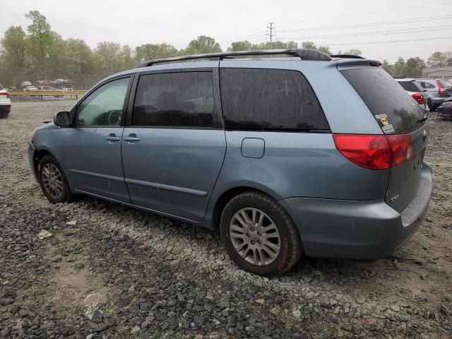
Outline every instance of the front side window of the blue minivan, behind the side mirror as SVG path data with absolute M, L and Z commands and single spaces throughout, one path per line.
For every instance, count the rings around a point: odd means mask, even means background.
M 119 126 L 130 78 L 97 88 L 77 107 L 77 126 Z

